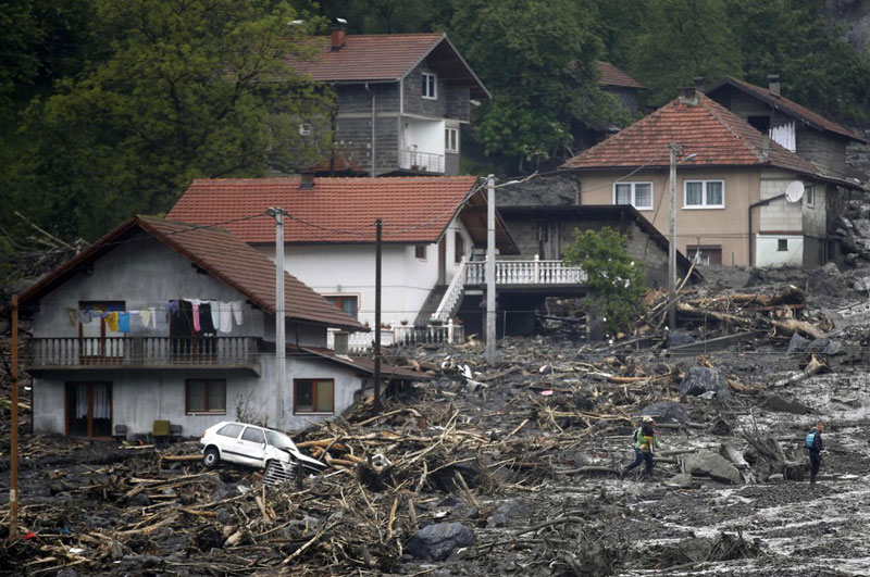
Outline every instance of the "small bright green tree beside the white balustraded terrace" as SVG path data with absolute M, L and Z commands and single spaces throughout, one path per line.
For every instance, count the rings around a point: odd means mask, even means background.
M 643 265 L 625 250 L 625 238 L 612 228 L 577 229 L 564 262 L 583 267 L 592 309 L 604 316 L 608 330 L 626 329 L 642 306 L 646 281 Z

